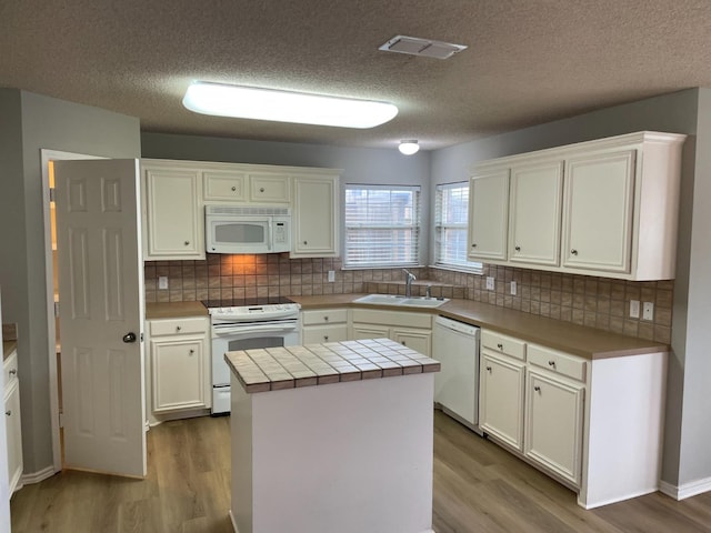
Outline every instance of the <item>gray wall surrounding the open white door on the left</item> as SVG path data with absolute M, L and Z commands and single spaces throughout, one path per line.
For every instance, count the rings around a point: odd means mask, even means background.
M 3 320 L 19 326 L 24 471 L 52 464 L 41 149 L 140 157 L 139 120 L 0 89 L 0 284 Z

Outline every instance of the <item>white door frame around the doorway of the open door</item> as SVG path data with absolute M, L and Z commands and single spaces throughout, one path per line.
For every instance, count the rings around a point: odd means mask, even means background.
M 57 375 L 57 329 L 54 328 L 54 254 L 52 250 L 52 228 L 49 192 L 49 162 L 77 159 L 107 159 L 101 155 L 63 152 L 59 150 L 40 149 L 42 171 L 42 211 L 44 214 L 44 279 L 47 286 L 47 336 L 49 358 L 49 402 L 52 423 L 52 463 L 53 472 L 47 477 L 62 470 L 62 443 L 59 431 L 59 384 Z M 61 342 L 61 340 L 60 340 Z M 39 480 L 38 480 L 39 481 Z

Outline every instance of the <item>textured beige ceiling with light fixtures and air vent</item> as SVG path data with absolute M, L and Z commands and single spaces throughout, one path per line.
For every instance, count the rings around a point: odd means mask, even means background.
M 395 34 L 469 48 L 444 61 L 378 50 Z M 192 80 L 400 113 L 370 130 L 209 118 L 181 104 Z M 0 0 L 0 87 L 139 117 L 143 131 L 431 150 L 711 87 L 711 1 Z

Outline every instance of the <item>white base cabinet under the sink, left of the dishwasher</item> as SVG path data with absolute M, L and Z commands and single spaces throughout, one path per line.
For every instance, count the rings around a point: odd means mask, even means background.
M 388 338 L 427 355 L 432 353 L 432 316 L 429 313 L 353 309 L 352 340 Z

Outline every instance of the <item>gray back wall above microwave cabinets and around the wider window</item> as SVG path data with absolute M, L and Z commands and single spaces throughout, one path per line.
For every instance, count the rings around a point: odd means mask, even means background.
M 194 135 L 143 133 L 142 157 L 150 159 L 182 159 L 192 161 L 224 161 L 231 163 L 284 164 L 343 169 L 341 199 L 346 183 L 382 183 L 421 185 L 422 221 L 429 221 L 430 153 L 403 155 L 397 148 L 365 149 L 302 144 L 289 142 L 249 141 Z M 427 243 L 429 224 L 423 224 L 421 262 L 429 258 Z

